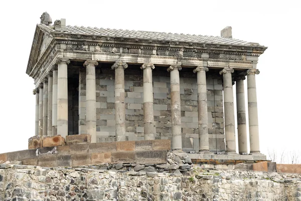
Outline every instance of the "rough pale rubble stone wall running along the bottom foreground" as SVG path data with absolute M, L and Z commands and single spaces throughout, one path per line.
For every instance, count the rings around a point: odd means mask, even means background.
M 0 201 L 301 200 L 301 174 L 193 167 L 158 173 L 0 165 Z

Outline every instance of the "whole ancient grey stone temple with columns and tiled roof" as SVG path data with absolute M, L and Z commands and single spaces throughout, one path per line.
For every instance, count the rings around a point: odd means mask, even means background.
M 26 70 L 36 85 L 36 136 L 169 139 L 173 151 L 192 158 L 265 159 L 255 76 L 266 47 L 232 39 L 231 27 L 215 37 L 51 21 L 47 13 L 41 17 Z

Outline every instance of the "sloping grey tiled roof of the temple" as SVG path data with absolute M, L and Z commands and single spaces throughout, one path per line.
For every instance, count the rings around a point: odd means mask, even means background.
M 44 30 L 47 30 L 50 33 L 68 33 L 68 34 L 77 34 L 77 35 L 107 36 L 107 37 L 118 37 L 118 38 L 143 39 L 143 40 L 177 41 L 177 42 L 189 42 L 189 43 L 264 47 L 262 45 L 259 45 L 258 43 L 250 43 L 243 40 L 218 37 L 218 36 L 134 31 L 134 30 L 122 30 L 122 29 L 104 29 L 104 28 L 96 28 L 96 27 L 92 28 L 92 27 L 83 27 L 83 26 L 81 27 L 66 26 L 67 31 L 61 32 L 61 31 L 55 31 L 53 26 L 47 26 L 44 24 L 39 24 L 38 26 Z

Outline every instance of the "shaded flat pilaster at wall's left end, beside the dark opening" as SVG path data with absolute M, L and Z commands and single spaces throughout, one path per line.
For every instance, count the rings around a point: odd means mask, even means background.
M 86 69 L 79 68 L 78 133 L 86 134 Z

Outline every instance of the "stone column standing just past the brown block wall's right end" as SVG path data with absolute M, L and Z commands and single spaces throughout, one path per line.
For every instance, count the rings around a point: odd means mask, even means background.
M 181 96 L 180 75 L 181 65 L 171 65 L 167 70 L 171 73 L 171 111 L 172 111 L 172 150 L 182 150 L 181 128 Z

